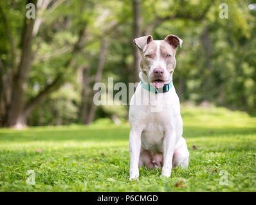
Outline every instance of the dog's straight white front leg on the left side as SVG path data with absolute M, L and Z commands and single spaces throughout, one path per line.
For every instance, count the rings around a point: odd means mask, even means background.
M 130 149 L 130 180 L 139 177 L 139 160 L 140 160 L 140 146 L 141 134 L 138 129 L 131 129 L 129 136 L 129 149 Z

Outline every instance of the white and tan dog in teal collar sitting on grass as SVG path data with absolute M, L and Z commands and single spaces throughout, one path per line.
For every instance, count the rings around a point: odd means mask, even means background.
M 142 71 L 129 108 L 130 180 L 138 180 L 143 165 L 161 168 L 166 177 L 170 177 L 172 168 L 188 166 L 179 97 L 172 84 L 176 49 L 182 42 L 175 35 L 164 40 L 153 40 L 151 35 L 134 39 L 142 56 Z M 143 103 L 149 95 L 153 96 L 149 103 Z

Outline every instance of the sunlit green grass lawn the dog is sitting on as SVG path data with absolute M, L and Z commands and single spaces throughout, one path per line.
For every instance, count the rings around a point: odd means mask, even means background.
M 188 168 L 175 168 L 166 178 L 142 167 L 140 180 L 131 182 L 127 123 L 0 129 L 0 191 L 256 192 L 256 118 L 187 107 L 182 117 Z M 28 170 L 35 172 L 35 185 L 26 184 Z

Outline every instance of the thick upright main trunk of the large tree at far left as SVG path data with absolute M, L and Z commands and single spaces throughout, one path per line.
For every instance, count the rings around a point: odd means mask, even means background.
M 50 0 L 28 0 L 26 4 L 32 3 L 36 5 L 35 13 L 41 13 L 46 9 Z M 8 104 L 8 110 L 6 111 L 5 126 L 14 126 L 21 128 L 26 124 L 26 115 L 24 110 L 25 92 L 28 83 L 28 75 L 32 67 L 33 51 L 32 45 L 37 35 L 37 31 L 41 25 L 42 19 L 40 15 L 37 15 L 35 19 L 27 19 L 24 17 L 23 33 L 21 36 L 21 60 L 15 70 L 15 59 L 12 60 L 12 71 L 15 72 L 12 76 L 12 94 L 10 97 L 10 104 Z M 10 33 L 10 32 L 9 32 Z M 8 35 L 12 40 L 11 35 Z M 15 58 L 14 44 L 12 45 L 12 58 Z

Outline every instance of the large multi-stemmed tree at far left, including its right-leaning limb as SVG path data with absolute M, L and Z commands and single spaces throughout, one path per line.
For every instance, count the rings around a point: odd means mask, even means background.
M 27 4 L 28 3 L 36 5 L 36 13 L 39 11 L 41 11 L 42 13 L 43 10 L 46 10 L 51 1 L 34 0 L 27 1 Z M 56 6 L 56 3 L 51 4 L 50 8 L 52 8 L 53 6 Z M 8 34 L 10 42 L 12 42 L 12 35 L 10 29 L 8 28 L 8 21 L 2 8 L 1 14 L 4 17 L 3 19 L 5 20 L 6 33 Z M 25 102 L 25 91 L 28 84 L 28 75 L 32 67 L 33 58 L 35 57 L 33 55 L 32 45 L 39 31 L 41 22 L 42 18 L 40 16 L 39 18 L 35 19 L 26 19 L 26 17 L 24 17 L 23 33 L 21 35 L 21 60 L 16 72 L 15 63 L 12 63 L 12 76 L 9 76 L 9 78 L 11 79 L 10 90 L 12 94 L 10 97 L 10 102 L 4 105 L 6 108 L 5 116 L 2 117 L 2 123 L 4 126 L 14 126 L 18 128 L 23 127 L 26 124 L 26 117 L 28 117 L 33 108 L 35 108 L 37 104 L 44 102 L 46 97 L 48 97 L 51 92 L 59 89 L 60 86 L 63 85 L 65 82 L 66 73 L 61 72 L 57 75 L 57 77 L 50 85 L 45 86 L 45 88 L 41 92 L 39 92 L 39 94 L 30 99 L 30 101 L 28 101 L 27 103 Z M 78 34 L 78 40 L 73 45 L 72 55 L 69 60 L 66 61 L 64 67 L 74 67 L 75 58 L 77 57 L 77 54 L 83 49 L 86 42 L 85 38 L 87 34 L 87 24 L 86 22 L 81 22 L 80 25 L 82 26 Z M 15 58 L 14 56 L 16 51 L 14 48 L 14 44 L 12 43 L 11 45 L 11 56 L 12 58 Z M 15 61 L 16 60 L 14 59 L 14 62 Z

